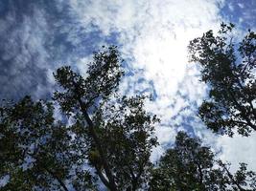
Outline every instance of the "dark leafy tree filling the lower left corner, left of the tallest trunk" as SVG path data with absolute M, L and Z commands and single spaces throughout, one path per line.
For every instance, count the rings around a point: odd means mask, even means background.
M 70 174 L 77 155 L 52 103 L 25 96 L 0 111 L 0 177 L 9 178 L 1 190 L 68 190 L 65 180 L 80 181 Z M 92 177 L 84 178 L 92 187 Z

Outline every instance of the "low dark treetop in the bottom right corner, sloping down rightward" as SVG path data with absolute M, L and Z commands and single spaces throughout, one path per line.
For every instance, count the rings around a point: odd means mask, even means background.
M 209 147 L 198 138 L 179 132 L 175 146 L 168 149 L 153 168 L 151 190 L 255 190 L 256 174 L 240 169 L 232 174 L 229 164 L 215 159 Z

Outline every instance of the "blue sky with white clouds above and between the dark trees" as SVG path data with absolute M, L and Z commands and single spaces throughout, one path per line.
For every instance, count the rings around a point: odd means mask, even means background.
M 233 22 L 242 38 L 256 28 L 255 0 L 2 0 L 0 1 L 0 98 L 51 97 L 53 72 L 71 65 L 81 74 L 92 53 L 117 45 L 127 75 L 120 92 L 151 94 L 147 110 L 161 118 L 153 150 L 156 160 L 177 131 L 202 138 L 221 159 L 256 170 L 256 134 L 214 135 L 197 117 L 206 96 L 187 45 L 203 32 Z

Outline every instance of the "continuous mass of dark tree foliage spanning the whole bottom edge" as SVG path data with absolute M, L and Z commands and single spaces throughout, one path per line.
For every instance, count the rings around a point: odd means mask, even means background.
M 116 47 L 104 48 L 85 77 L 71 67 L 57 70 L 53 101 L 25 96 L 2 104 L 1 190 L 255 189 L 246 164 L 231 174 L 229 164 L 185 133 L 154 166 L 159 119 L 145 110 L 148 97 L 118 94 L 121 63 Z

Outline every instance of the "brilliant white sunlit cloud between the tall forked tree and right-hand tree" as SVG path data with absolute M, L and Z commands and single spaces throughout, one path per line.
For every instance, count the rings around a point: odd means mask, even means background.
M 156 132 L 162 145 L 174 141 L 175 131 L 186 128 L 178 126 L 188 123 L 206 143 L 214 144 L 215 149 L 222 147 L 223 159 L 229 156 L 228 159 L 236 163 L 237 154 L 231 149 L 236 145 L 236 138 L 217 139 L 195 116 L 205 86 L 198 82 L 196 67 L 189 66 L 187 61 L 189 41 L 209 29 L 219 29 L 223 0 L 98 0 L 89 4 L 72 0 L 70 5 L 86 30 L 92 29 L 86 26 L 93 25 L 104 36 L 113 32 L 119 34 L 121 51 L 125 59 L 132 60 L 128 65 L 133 73 L 124 79 L 121 90 L 134 94 L 153 88 L 157 96 L 147 107 L 162 119 L 162 126 Z M 138 83 L 140 78 L 145 81 Z M 185 117 L 193 119 L 184 121 Z M 255 140 L 248 139 L 250 151 Z M 239 138 L 239 141 L 243 140 Z M 237 152 L 244 156 L 250 155 L 237 148 Z M 163 148 L 158 147 L 152 159 L 157 159 L 162 152 Z M 242 160 L 250 163 L 253 158 Z

